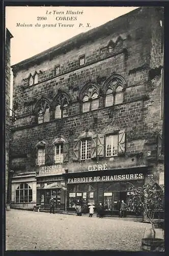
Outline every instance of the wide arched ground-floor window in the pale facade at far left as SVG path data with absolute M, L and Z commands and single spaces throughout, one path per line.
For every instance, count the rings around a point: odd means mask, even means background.
M 20 184 L 16 189 L 16 203 L 32 202 L 32 188 L 27 183 Z

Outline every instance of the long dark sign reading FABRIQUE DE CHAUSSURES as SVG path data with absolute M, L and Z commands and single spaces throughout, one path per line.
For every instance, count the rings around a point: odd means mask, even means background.
M 127 180 L 143 180 L 143 174 L 124 174 L 124 175 L 109 175 L 109 176 L 94 176 L 94 177 L 81 177 L 70 178 L 69 183 L 87 183 L 87 182 L 100 182 L 100 181 L 127 181 Z

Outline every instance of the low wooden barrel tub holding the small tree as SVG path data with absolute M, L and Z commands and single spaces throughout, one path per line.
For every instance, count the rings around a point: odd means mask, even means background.
M 164 251 L 164 240 L 160 238 L 143 238 L 142 251 Z

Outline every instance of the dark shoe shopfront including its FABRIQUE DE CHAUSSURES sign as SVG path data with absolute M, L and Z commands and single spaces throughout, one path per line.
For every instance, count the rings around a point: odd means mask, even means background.
M 75 210 L 77 200 L 81 204 L 101 202 L 107 214 L 118 215 L 121 201 L 127 203 L 129 187 L 144 184 L 143 170 L 108 170 L 105 173 L 76 173 L 67 175 L 67 210 Z

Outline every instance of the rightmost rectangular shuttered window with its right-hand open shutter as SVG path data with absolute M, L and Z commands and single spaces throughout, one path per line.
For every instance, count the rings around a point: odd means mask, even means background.
M 118 156 L 125 152 L 125 130 L 106 136 L 106 157 Z

